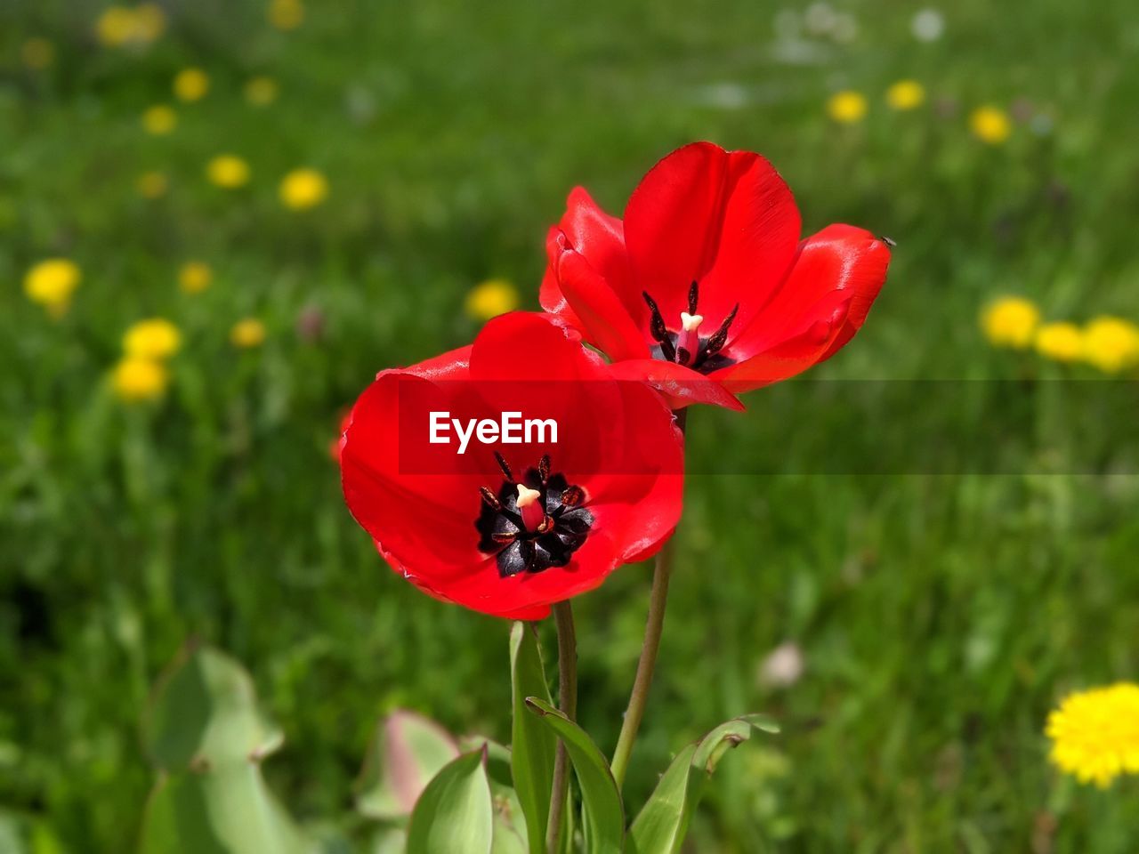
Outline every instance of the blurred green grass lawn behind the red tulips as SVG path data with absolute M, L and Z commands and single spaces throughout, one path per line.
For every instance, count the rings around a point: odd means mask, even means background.
M 796 453 L 876 434 L 890 447 L 911 417 L 960 417 L 947 383 L 912 413 L 844 421 L 828 412 L 828 389 L 857 387 L 842 380 L 1054 376 L 986 348 L 976 315 L 1000 293 L 1056 319 L 1139 314 L 1126 3 L 968 0 L 929 44 L 898 2 L 844 3 L 850 44 L 788 42 L 776 7 L 739 0 L 328 0 L 289 33 L 260 3 L 165 6 L 167 33 L 144 51 L 96 44 L 95 3 L 0 8 L 0 807 L 34 829 L 32 851 L 129 847 L 151 781 L 141 709 L 191 635 L 251 668 L 287 738 L 268 773 L 306 821 L 343 819 L 386 709 L 507 738 L 507 625 L 382 566 L 327 445 L 376 370 L 473 337 L 461 306 L 478 280 L 505 276 L 536 307 L 544 229 L 571 187 L 620 211 L 691 139 L 765 153 L 806 230 L 850 221 L 899 249 L 863 332 L 812 375 L 834 381 L 691 419 L 693 468 L 710 474 L 688 487 L 633 800 L 686 739 L 765 711 L 786 734 L 723 763 L 693 851 L 1133 847 L 1134 783 L 1059 779 L 1042 737 L 1064 691 L 1139 673 L 1133 427 L 1046 429 L 1050 457 L 981 471 L 844 474 Z M 32 35 L 56 46 L 43 72 L 19 64 Z M 147 137 L 139 116 L 190 64 L 210 95 Z M 240 89 L 261 73 L 281 95 L 259 110 Z M 882 100 L 901 77 L 929 92 L 913 113 Z M 827 120 L 838 88 L 868 96 L 863 123 Z M 1018 99 L 1050 132 L 969 136 L 973 107 Z M 248 159 L 248 188 L 205 182 L 223 151 Z M 329 178 L 313 212 L 277 202 L 297 165 Z M 149 170 L 171 184 L 154 202 L 134 190 Z M 51 322 L 19 281 L 57 254 L 84 280 Z M 189 258 L 216 272 L 200 296 L 175 285 Z M 317 339 L 295 330 L 305 310 Z M 167 400 L 128 408 L 105 377 L 125 327 L 155 314 L 186 345 Z M 237 353 L 228 330 L 249 314 L 269 338 Z M 993 432 L 986 451 L 1007 459 L 1018 438 Z M 1093 465 L 1084 441 L 1106 449 Z M 580 714 L 606 748 L 647 590 L 632 567 L 575 606 Z M 805 674 L 764 687 L 760 663 L 785 640 Z

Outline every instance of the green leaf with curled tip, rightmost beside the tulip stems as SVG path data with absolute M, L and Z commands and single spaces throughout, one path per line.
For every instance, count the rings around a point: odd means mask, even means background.
M 752 730 L 779 732 L 765 715 L 727 721 L 682 749 L 664 772 L 629 829 L 630 854 L 677 854 L 704 788 L 723 755 L 751 738 Z

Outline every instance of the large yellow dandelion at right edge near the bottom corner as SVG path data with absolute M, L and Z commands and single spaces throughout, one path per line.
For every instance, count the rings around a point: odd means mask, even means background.
M 1117 682 L 1068 695 L 1048 715 L 1051 761 L 1080 782 L 1101 789 L 1139 774 L 1139 685 Z

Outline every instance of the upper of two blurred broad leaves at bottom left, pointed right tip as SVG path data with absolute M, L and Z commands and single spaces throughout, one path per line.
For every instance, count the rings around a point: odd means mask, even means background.
M 185 649 L 159 681 L 146 725 L 166 771 L 246 762 L 276 750 L 281 731 L 257 707 L 249 674 L 210 647 Z

